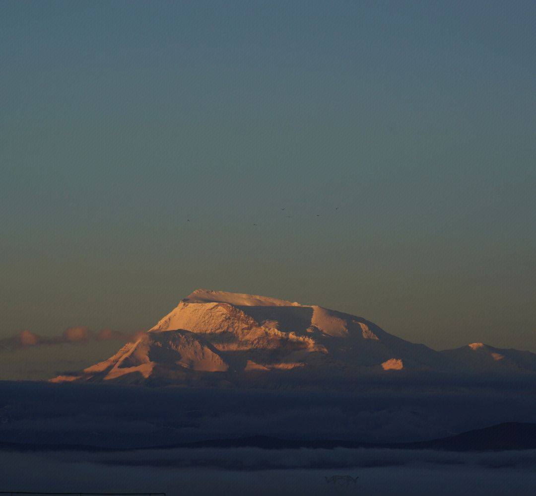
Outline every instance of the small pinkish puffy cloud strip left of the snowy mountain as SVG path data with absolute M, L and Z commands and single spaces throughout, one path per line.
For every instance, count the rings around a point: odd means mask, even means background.
M 94 332 L 85 325 L 77 325 L 76 327 L 65 329 L 60 336 L 48 337 L 40 336 L 25 329 L 9 338 L 0 339 L 0 350 L 11 351 L 45 344 L 84 343 L 91 339 L 95 341 L 116 340 L 128 343 L 135 342 L 143 334 L 145 334 L 145 331 L 142 329 L 138 329 L 133 333 L 113 331 L 111 329 Z

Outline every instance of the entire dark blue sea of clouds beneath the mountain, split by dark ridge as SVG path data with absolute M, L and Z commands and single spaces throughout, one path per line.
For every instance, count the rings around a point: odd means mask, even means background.
M 162 448 L 246 435 L 396 442 L 536 422 L 533 385 L 369 377 L 362 388 L 147 388 L 0 381 L 0 439 L 129 450 L 0 450 L 2 491 L 534 494 L 536 450 Z M 515 387 L 512 387 L 515 386 Z M 160 446 L 153 449 L 140 447 Z M 333 484 L 333 476 L 337 485 Z M 348 482 L 350 476 L 356 482 Z M 331 483 L 329 481 L 332 481 Z

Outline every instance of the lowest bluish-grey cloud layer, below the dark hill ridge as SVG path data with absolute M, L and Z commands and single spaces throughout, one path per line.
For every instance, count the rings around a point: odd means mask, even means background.
M 0 480 L 4 491 L 165 492 L 167 496 L 532 496 L 536 490 L 535 460 L 534 451 L 449 454 L 203 449 L 123 455 L 0 452 Z M 233 468 L 237 461 L 240 467 Z M 277 468 L 258 469 L 259 463 Z

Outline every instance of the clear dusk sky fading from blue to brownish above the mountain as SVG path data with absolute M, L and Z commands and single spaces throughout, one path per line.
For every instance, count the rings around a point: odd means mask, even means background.
M 0 338 L 149 328 L 209 288 L 536 352 L 535 25 L 532 0 L 0 3 Z

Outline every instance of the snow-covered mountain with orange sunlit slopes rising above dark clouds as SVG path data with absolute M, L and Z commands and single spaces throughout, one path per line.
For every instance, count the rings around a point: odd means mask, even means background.
M 502 356 L 500 351 L 494 351 L 490 360 Z M 309 372 L 331 376 L 401 370 L 489 372 L 502 370 L 507 361 L 515 364 L 507 367 L 508 371 L 512 367 L 536 370 L 532 353 L 524 352 L 529 355 L 525 356 L 523 352 L 509 352 L 508 360 L 495 358 L 497 366 L 490 368 L 489 360 L 480 354 L 471 357 L 458 350 L 440 353 L 390 335 L 361 317 L 335 310 L 197 290 L 136 343 L 126 344 L 113 357 L 79 374 L 51 381 L 221 386 L 262 374 L 264 384 L 269 384 L 270 373 L 281 371 L 296 377 L 307 377 Z M 482 360 L 486 367 L 481 367 Z

